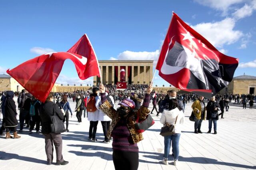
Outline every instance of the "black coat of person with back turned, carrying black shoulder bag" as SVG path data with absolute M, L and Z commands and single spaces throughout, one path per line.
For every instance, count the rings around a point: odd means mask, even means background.
M 56 115 L 60 118 L 60 120 L 64 119 L 64 115 L 57 104 L 54 104 L 51 101 L 46 101 L 40 107 L 40 117 L 42 119 L 42 134 L 51 133 L 51 116 L 53 116 L 53 109 Z

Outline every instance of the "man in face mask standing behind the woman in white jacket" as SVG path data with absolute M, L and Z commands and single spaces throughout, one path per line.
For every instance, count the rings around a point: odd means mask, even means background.
M 170 100 L 171 99 L 176 99 L 176 95 L 177 95 L 177 92 L 175 90 L 170 90 L 169 91 L 168 97 L 165 97 L 165 99 L 161 102 L 159 110 L 158 110 L 159 112 L 156 116 L 158 116 L 159 113 L 162 113 L 164 111 L 164 109 L 168 109 Z M 182 101 L 177 99 L 177 102 L 179 103 L 179 109 L 181 109 L 184 113 L 184 108 L 183 108 Z

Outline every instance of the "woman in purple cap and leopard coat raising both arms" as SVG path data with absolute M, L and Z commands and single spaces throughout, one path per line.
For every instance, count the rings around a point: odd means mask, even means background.
M 104 85 L 100 85 L 100 96 L 102 105 L 100 109 L 112 119 L 108 130 L 108 138 L 112 136 L 113 162 L 116 170 L 137 170 L 139 164 L 139 150 L 137 143 L 143 139 L 142 133 L 137 132 L 135 128 L 136 117 L 139 120 L 146 119 L 150 110 L 150 93 L 152 92 L 152 83 L 146 89 L 146 95 L 140 109 L 134 111 L 135 103 L 130 99 L 123 99 L 120 107 L 115 110 L 108 103 L 105 94 Z

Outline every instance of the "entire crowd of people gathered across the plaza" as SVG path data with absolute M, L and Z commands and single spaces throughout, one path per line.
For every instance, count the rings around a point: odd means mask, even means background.
M 175 125 L 175 134 L 164 136 L 164 156 L 162 163 L 168 165 L 170 146 L 172 146 L 172 155 L 174 165 L 178 164 L 179 157 L 179 140 L 182 133 L 182 124 L 185 122 L 185 106 L 188 102 L 192 103 L 192 115 L 195 117 L 194 133 L 199 134 L 203 120 L 208 120 L 208 133 L 211 133 L 212 123 L 214 125 L 214 134 L 217 134 L 217 121 L 219 115 L 224 119 L 224 111 L 229 110 L 230 102 L 242 103 L 246 109 L 249 101 L 250 109 L 256 97 L 254 95 L 238 94 L 217 94 L 211 99 L 205 99 L 203 96 L 196 94 L 177 94 L 175 90 L 166 93 L 156 94 L 152 85 L 129 85 L 125 91 L 118 91 L 116 85 L 100 85 L 93 87 L 88 91 L 74 91 L 72 93 L 50 93 L 46 102 L 41 103 L 26 90 L 21 93 L 13 91 L 0 92 L 1 95 L 1 112 L 3 115 L 0 135 L 6 139 L 20 138 L 17 127 L 20 125 L 19 133 L 23 128 L 29 128 L 32 133 L 36 126 L 36 132 L 40 132 L 45 138 L 45 150 L 48 164 L 53 162 L 53 146 L 56 148 L 57 165 L 68 164 L 62 156 L 62 136 L 61 133 L 52 132 L 51 117 L 57 115 L 58 119 L 66 122 L 65 131 L 68 132 L 69 114 L 73 115 L 70 108 L 69 99 L 76 102 L 75 112 L 78 125 L 82 122 L 82 113 L 90 121 L 88 129 L 88 140 L 97 141 L 96 131 L 98 121 L 102 124 L 104 133 L 103 143 L 110 143 L 112 139 L 113 162 L 117 170 L 138 169 L 138 145 L 143 139 L 141 132 L 136 130 L 135 124 L 138 117 L 139 121 L 144 121 L 150 113 L 148 106 L 152 100 L 153 110 L 156 116 L 161 113 L 160 123 L 163 125 Z M 14 96 L 18 97 L 19 123 L 16 119 L 18 115 Z M 114 109 L 116 101 L 119 101 L 118 109 Z M 207 104 L 206 104 L 207 102 Z M 158 106 L 158 110 L 157 110 Z M 220 113 L 219 113 L 220 111 Z M 10 135 L 13 131 L 13 136 Z

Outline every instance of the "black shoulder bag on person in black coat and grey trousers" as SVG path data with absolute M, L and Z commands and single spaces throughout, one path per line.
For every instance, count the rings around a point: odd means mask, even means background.
M 53 109 L 53 116 L 50 117 L 50 119 L 52 121 L 52 123 L 50 124 L 51 132 L 52 133 L 62 133 L 62 132 L 65 132 L 66 130 L 65 130 L 64 123 L 62 122 L 62 120 L 60 120 L 58 115 L 55 114 L 54 105 L 53 105 L 52 109 Z

